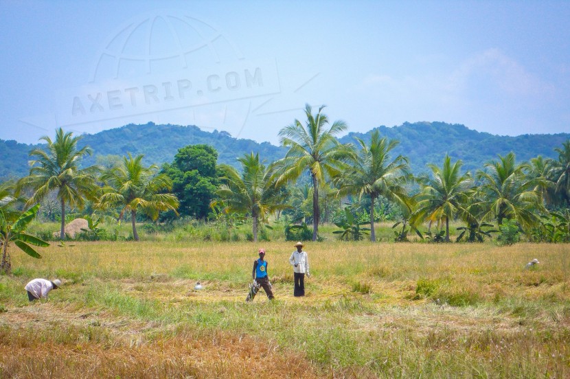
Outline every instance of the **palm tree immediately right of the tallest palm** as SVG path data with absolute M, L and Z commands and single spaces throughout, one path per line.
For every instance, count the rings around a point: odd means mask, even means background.
M 398 141 L 380 138 L 378 130 L 372 132 L 370 144 L 356 138 L 361 150 L 354 154 L 349 161 L 350 168 L 343 171 L 335 183 L 339 185 L 339 195 L 348 194 L 370 196 L 370 240 L 376 241 L 374 233 L 374 201 L 378 196 L 385 196 L 390 200 L 404 205 L 406 190 L 404 183 L 409 178 L 408 160 L 398 155 L 390 161 L 390 152 Z

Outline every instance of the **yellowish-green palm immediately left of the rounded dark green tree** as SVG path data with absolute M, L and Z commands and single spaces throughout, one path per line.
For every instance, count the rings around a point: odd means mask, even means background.
M 136 225 L 139 208 L 152 220 L 157 220 L 160 211 L 171 209 L 176 213 L 179 205 L 176 196 L 161 193 L 172 189 L 170 178 L 166 174 L 155 175 L 158 166 L 153 164 L 144 167 L 142 159 L 142 154 L 135 158 L 128 154 L 119 165 L 103 172 L 101 180 L 106 185 L 95 203 L 99 209 L 121 207 L 119 219 L 126 211 L 130 211 L 135 241 L 139 240 Z

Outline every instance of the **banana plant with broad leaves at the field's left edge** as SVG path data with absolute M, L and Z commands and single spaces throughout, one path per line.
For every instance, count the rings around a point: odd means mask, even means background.
M 41 258 L 41 255 L 32 246 L 30 246 L 30 244 L 40 247 L 49 246 L 49 243 L 44 240 L 25 233 L 27 225 L 34 220 L 39 208 L 39 204 L 34 205 L 19 215 L 16 220 L 6 217 L 4 212 L 0 209 L 0 246 L 2 249 L 0 271 L 3 273 L 9 274 L 12 271 L 10 253 L 8 252 L 8 247 L 12 242 L 14 242 L 14 244 L 24 253 L 30 255 L 30 257 L 38 259 Z

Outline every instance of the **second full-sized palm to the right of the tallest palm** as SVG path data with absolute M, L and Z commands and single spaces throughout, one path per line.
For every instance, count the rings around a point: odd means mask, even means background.
M 445 218 L 445 241 L 449 242 L 449 219 L 467 214 L 466 198 L 473 185 L 469 174 L 461 174 L 461 160 L 451 164 L 446 155 L 443 166 L 429 164 L 432 178 L 420 179 L 422 192 L 418 197 L 415 217 L 430 222 Z

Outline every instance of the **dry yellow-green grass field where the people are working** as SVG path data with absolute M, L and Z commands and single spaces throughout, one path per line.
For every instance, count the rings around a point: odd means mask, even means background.
M 259 247 L 276 299 L 245 303 Z M 309 242 L 304 298 L 293 297 L 293 250 L 13 250 L 14 275 L 0 276 L 0 378 L 570 378 L 567 244 Z M 30 304 L 34 277 L 62 288 Z

